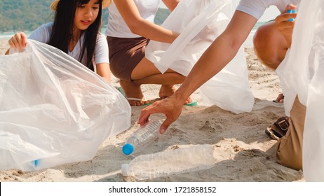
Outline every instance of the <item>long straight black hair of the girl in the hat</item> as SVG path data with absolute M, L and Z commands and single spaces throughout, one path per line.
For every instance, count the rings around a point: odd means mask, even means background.
M 50 36 L 49 45 L 59 48 L 63 52 L 68 52 L 69 41 L 72 39 L 74 15 L 76 7 L 88 3 L 90 0 L 60 0 L 55 11 L 52 35 Z M 102 16 L 102 0 L 99 2 L 99 12 L 95 22 L 88 29 L 81 31 L 84 34 L 84 43 L 82 44 L 79 62 L 82 61 L 83 55 L 86 56 L 86 66 L 94 71 L 93 53 L 95 52 L 95 44 L 97 43 L 97 34 L 101 26 Z

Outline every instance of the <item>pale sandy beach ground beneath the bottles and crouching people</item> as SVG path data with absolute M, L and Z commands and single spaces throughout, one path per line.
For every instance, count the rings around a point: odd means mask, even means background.
M 0 55 L 8 49 L 7 41 L 0 41 Z M 147 181 L 304 181 L 302 171 L 278 165 L 274 160 L 276 141 L 264 133 L 266 127 L 284 116 L 283 104 L 272 102 L 281 92 L 278 76 L 266 69 L 255 56 L 253 48 L 245 48 L 250 87 L 255 105 L 250 113 L 231 113 L 217 106 L 203 106 L 199 92 L 192 97 L 198 106 L 184 106 L 182 115 L 141 154 L 172 151 L 200 144 L 214 149 L 215 166 L 198 172 L 170 175 Z M 114 78 L 113 85 L 119 86 Z M 159 85 L 143 85 L 148 99 L 158 97 Z M 123 155 L 121 147 L 137 128 L 137 119 L 144 106 L 132 107 L 131 127 L 104 141 L 93 160 L 60 165 L 39 172 L 22 172 L 18 169 L 0 171 L 0 181 L 138 181 L 121 174 L 121 165 L 133 160 Z M 163 114 L 151 116 L 163 119 Z M 171 166 L 170 166 L 171 167 Z

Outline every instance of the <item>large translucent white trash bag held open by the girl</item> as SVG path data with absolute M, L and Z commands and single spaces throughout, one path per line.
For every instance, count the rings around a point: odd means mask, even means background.
M 0 169 L 90 160 L 128 127 L 122 94 L 64 52 L 28 41 L 25 51 L 0 56 Z

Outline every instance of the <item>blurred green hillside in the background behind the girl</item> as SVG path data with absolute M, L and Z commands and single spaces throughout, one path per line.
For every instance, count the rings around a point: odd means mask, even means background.
M 0 0 L 0 32 L 33 31 L 47 22 L 53 21 L 50 10 L 53 0 Z M 168 17 L 169 10 L 158 9 L 155 22 L 158 25 Z M 102 26 L 107 25 L 108 10 L 102 13 Z

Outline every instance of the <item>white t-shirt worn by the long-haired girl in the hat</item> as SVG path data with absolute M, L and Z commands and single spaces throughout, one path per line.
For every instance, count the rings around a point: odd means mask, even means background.
M 52 34 L 53 22 L 49 22 L 47 24 L 41 25 L 41 27 L 37 28 L 30 36 L 29 39 L 33 39 L 42 43 L 48 43 L 50 41 L 50 35 Z M 83 44 L 84 36 L 81 35 L 78 43 L 76 43 L 73 50 L 68 51 L 68 55 L 73 57 L 76 60 L 79 60 L 81 54 L 81 48 Z M 97 44 L 95 45 L 95 55 L 94 55 L 95 64 L 100 63 L 109 63 L 109 53 L 108 53 L 108 43 L 103 34 L 98 34 L 97 36 Z M 86 51 L 84 52 L 84 57 L 81 61 L 82 64 L 86 65 Z

